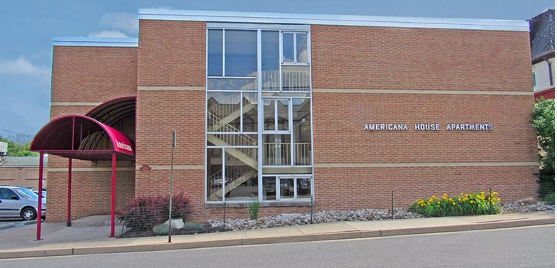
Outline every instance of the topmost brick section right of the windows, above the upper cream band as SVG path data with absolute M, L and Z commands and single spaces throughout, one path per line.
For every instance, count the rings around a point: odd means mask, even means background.
M 311 26 L 313 88 L 532 91 L 529 40 L 517 31 Z

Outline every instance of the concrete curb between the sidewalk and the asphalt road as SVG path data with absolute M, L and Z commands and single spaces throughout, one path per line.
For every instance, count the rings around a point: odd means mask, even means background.
M 489 230 L 509 227 L 524 227 L 533 225 L 553 225 L 555 218 L 538 218 L 524 220 L 499 220 L 486 223 L 471 223 L 465 225 L 435 226 L 435 227 L 410 227 L 385 230 L 354 230 L 344 232 L 328 232 L 319 234 L 302 234 L 282 237 L 251 237 L 227 240 L 209 240 L 197 242 L 154 242 L 150 245 L 110 245 L 100 247 L 73 247 L 53 248 L 44 250 L 14 250 L 0 252 L 0 259 L 13 259 L 23 257 L 53 257 L 78 254 L 106 254 L 124 252 L 146 252 L 160 250 L 187 250 L 202 247 L 229 247 L 241 245 L 278 244 L 286 242 L 308 242 L 324 240 L 343 240 L 354 238 L 388 237 L 395 235 L 417 235 L 439 232 L 462 232 L 472 230 Z

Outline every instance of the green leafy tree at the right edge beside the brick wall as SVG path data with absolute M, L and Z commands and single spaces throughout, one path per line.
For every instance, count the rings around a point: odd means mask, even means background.
M 540 151 L 540 188 L 538 193 L 545 197 L 555 193 L 555 99 L 536 100 L 533 104 L 533 128 L 538 134 Z

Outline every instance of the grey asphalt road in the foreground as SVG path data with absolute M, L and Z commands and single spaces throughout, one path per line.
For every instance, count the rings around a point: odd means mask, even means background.
M 0 260 L 0 267 L 555 267 L 555 225 Z

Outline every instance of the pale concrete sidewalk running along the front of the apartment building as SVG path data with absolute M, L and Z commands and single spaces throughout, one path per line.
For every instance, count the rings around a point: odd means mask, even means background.
M 110 216 L 93 216 L 75 220 L 72 222 L 72 227 L 66 227 L 66 223 L 43 223 L 41 232 L 43 240 L 40 241 L 34 240 L 36 224 L 3 229 L 2 226 L 6 227 L 6 224 L 11 223 L 0 221 L 0 259 L 179 250 L 553 225 L 555 212 L 548 210 L 536 213 L 298 225 L 239 232 L 175 235 L 172 236 L 171 243 L 168 242 L 167 236 L 109 238 Z M 117 235 L 121 230 L 122 227 L 117 225 Z

